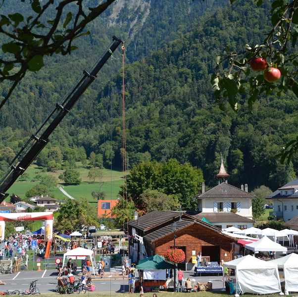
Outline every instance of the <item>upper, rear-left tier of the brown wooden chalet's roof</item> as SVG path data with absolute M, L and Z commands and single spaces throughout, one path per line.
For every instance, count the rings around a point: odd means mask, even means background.
M 147 231 L 167 221 L 171 221 L 173 217 L 179 217 L 180 211 L 160 211 L 153 210 L 142 215 L 138 220 L 128 222 L 129 225 Z M 183 213 L 182 213 L 183 215 Z

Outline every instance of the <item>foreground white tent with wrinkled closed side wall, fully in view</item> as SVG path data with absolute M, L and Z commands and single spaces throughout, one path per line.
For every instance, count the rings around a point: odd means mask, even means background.
M 277 265 L 257 259 L 251 255 L 223 264 L 225 268 L 235 269 L 236 283 L 243 294 L 271 294 L 281 292 Z

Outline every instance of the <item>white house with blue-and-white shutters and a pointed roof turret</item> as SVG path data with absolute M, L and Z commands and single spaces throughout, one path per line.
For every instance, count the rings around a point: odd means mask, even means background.
M 203 182 L 202 193 L 193 198 L 197 200 L 199 212 L 195 217 L 204 218 L 222 229 L 232 226 L 241 229 L 250 228 L 254 223 L 252 199 L 257 197 L 248 193 L 247 184 L 242 185 L 241 189 L 228 184 L 229 176 L 222 161 L 219 173 L 216 175 L 218 185 L 205 191 Z

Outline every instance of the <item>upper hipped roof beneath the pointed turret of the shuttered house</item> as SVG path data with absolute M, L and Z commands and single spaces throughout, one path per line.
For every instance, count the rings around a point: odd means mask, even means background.
M 222 182 L 214 188 L 206 191 L 203 194 L 197 195 L 195 199 L 206 199 L 206 198 L 250 198 L 255 199 L 256 196 L 246 191 L 243 191 L 235 186 Z

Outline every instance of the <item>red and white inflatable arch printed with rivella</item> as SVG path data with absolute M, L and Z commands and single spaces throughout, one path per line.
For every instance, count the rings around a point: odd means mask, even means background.
M 53 213 L 52 212 L 14 212 L 0 213 L 0 240 L 4 239 L 5 221 L 38 221 L 45 220 L 45 239 L 53 237 Z

